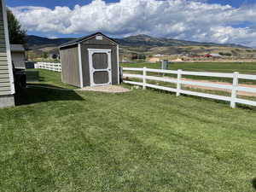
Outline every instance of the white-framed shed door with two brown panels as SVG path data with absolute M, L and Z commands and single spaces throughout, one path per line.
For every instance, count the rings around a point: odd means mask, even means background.
M 111 49 L 88 49 L 90 63 L 90 85 L 112 84 Z

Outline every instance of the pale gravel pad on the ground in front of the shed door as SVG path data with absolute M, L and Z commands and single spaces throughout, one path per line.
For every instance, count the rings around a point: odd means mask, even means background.
M 84 87 L 79 90 L 89 90 L 89 91 L 98 91 L 98 92 L 107 92 L 107 93 L 125 93 L 131 91 L 119 85 L 104 85 L 104 86 L 95 86 L 95 87 Z

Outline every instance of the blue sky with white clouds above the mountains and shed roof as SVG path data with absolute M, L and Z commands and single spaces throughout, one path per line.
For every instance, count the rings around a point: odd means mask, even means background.
M 256 47 L 255 0 L 6 0 L 28 34 L 148 34 Z

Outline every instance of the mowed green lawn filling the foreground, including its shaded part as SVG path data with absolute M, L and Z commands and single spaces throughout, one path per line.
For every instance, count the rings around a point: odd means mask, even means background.
M 18 98 L 0 109 L 0 191 L 255 191 L 255 108 L 154 90 Z

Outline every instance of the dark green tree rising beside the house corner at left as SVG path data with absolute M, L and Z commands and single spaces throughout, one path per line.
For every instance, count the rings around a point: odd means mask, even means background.
M 19 20 L 10 9 L 7 9 L 9 43 L 26 45 L 26 30 L 22 29 Z

